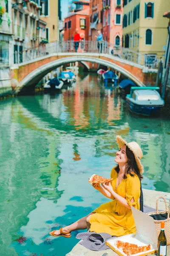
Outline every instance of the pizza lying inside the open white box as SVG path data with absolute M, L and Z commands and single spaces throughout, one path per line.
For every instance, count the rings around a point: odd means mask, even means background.
M 146 245 L 146 246 L 138 246 L 137 244 L 130 244 L 127 242 L 122 242 L 122 241 L 116 241 L 116 246 L 120 250 L 122 250 L 127 256 L 136 254 L 136 253 L 142 253 L 146 252 L 147 250 L 152 249 L 152 245 Z

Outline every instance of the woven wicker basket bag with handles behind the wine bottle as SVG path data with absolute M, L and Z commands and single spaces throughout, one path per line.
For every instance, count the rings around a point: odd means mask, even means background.
M 159 198 L 162 198 L 165 203 L 165 211 L 163 211 L 163 212 L 159 212 L 159 210 L 158 210 Z M 156 234 L 157 234 L 157 236 L 159 236 L 159 233 L 161 232 L 161 221 L 164 221 L 164 224 L 165 224 L 164 230 L 165 230 L 165 236 L 167 238 L 167 245 L 170 245 L 170 209 L 169 210 L 167 209 L 167 202 L 163 196 L 159 196 L 156 199 L 156 212 L 148 212 L 146 214 L 154 215 L 154 214 L 160 214 L 160 213 L 167 213 L 167 219 L 160 220 L 160 221 L 154 220 L 155 227 L 156 227 Z

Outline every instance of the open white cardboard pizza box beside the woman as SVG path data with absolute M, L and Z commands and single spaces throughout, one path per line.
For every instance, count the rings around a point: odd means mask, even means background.
M 122 250 L 116 247 L 116 241 L 120 240 L 138 246 L 152 245 L 152 249 L 142 253 L 133 254 L 133 256 L 146 256 L 157 251 L 158 238 L 153 218 L 144 214 L 138 209 L 131 207 L 133 218 L 136 225 L 136 234 L 119 236 L 106 241 L 106 244 L 120 256 L 127 256 Z

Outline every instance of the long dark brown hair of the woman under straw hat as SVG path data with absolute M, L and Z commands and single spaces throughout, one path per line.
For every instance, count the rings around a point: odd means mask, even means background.
M 135 156 L 133 152 L 126 146 L 126 156 L 127 156 L 127 165 L 125 167 L 125 175 L 124 179 L 127 178 L 127 174 L 130 174 L 131 176 L 134 176 L 135 174 L 138 175 L 140 180 L 143 179 L 143 176 L 140 174 L 138 166 L 136 164 Z M 119 173 L 119 164 L 115 168 L 116 172 Z

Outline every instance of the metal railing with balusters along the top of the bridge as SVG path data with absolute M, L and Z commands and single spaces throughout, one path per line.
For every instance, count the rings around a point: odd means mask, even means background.
M 106 54 L 115 56 L 120 60 L 124 59 L 152 69 L 156 69 L 158 67 L 159 59 L 154 55 L 145 55 L 131 51 L 128 48 L 113 45 L 106 41 L 80 41 L 76 42 L 76 44 L 78 49 L 75 48 L 76 45 L 74 41 L 56 41 L 46 44 L 44 49 L 34 48 L 14 53 L 18 54 L 18 58 L 15 56 L 15 59 L 17 59 L 17 63 L 24 63 L 52 53 L 76 52 L 77 50 L 77 53 L 98 53 L 99 55 Z

